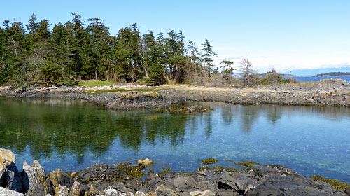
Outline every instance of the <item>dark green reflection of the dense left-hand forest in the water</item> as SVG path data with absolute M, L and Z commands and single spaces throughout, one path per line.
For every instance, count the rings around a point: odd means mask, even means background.
M 152 111 L 108 112 L 83 102 L 67 105 L 64 100 L 47 107 L 48 100 L 30 100 L 1 100 L 0 144 L 17 153 L 29 148 L 34 159 L 50 158 L 57 151 L 60 158 L 73 153 L 82 163 L 86 151 L 103 155 L 116 138 L 134 153 L 143 141 L 155 145 L 158 139 L 177 146 L 183 143 L 187 120 L 193 118 Z M 23 106 L 22 102 L 29 103 Z

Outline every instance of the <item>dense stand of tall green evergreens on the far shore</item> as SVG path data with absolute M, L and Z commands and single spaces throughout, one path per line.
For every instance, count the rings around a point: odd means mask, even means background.
M 27 25 L 3 21 L 0 28 L 0 85 L 75 85 L 79 80 L 146 81 L 209 78 L 213 72 L 208 40 L 197 49 L 181 31 L 141 34 L 137 24 L 110 35 L 99 18 L 72 13 L 72 20 L 53 25 L 36 20 Z

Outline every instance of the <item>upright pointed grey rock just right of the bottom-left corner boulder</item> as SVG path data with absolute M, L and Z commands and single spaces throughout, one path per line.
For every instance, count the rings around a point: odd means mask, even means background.
M 33 165 L 23 162 L 23 188 L 26 195 L 53 195 L 50 179 L 37 160 Z

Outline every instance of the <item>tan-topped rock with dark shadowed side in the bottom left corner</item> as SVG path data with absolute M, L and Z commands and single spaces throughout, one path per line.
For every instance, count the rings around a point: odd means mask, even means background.
M 15 162 L 12 151 L 0 148 L 0 186 L 22 192 L 22 178 Z

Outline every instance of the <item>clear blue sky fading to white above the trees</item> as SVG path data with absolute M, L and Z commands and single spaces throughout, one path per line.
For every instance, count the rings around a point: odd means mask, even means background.
M 31 14 L 38 21 L 65 23 L 71 13 L 101 18 L 111 35 L 137 22 L 141 33 L 181 30 L 186 41 L 202 48 L 207 38 L 218 54 L 214 64 L 233 60 L 239 66 L 248 57 L 253 69 L 318 69 L 350 66 L 350 1 L 3 1 L 0 21 L 27 25 Z

